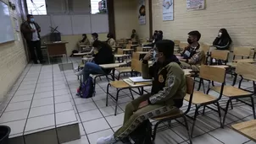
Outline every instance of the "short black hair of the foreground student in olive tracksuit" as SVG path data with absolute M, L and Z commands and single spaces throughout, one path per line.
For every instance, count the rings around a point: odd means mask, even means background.
M 172 40 L 159 40 L 156 43 L 159 52 L 163 52 L 165 57 L 173 56 L 175 43 Z

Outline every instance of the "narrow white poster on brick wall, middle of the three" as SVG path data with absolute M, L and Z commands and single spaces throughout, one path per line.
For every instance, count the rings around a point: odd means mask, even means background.
M 173 0 L 163 0 L 163 20 L 173 20 Z

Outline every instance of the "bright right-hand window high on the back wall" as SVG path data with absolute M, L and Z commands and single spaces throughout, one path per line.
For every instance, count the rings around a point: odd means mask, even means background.
M 91 13 L 107 13 L 107 0 L 91 0 Z

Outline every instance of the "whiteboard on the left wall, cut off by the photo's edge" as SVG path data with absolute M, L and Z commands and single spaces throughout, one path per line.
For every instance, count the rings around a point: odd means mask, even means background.
M 0 43 L 14 40 L 14 27 L 8 6 L 0 1 Z

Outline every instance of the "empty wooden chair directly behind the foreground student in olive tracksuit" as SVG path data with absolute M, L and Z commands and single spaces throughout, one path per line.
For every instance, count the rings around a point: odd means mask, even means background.
M 218 112 L 219 119 L 220 119 L 220 127 L 223 127 L 222 122 L 221 122 L 219 100 L 222 97 L 222 92 L 223 92 L 223 88 L 225 85 L 225 69 L 220 68 L 220 67 L 210 67 L 210 66 L 203 65 L 200 67 L 199 77 L 202 81 L 203 80 L 209 81 L 209 84 L 208 84 L 207 93 L 203 93 L 203 92 L 199 92 L 199 91 L 194 91 L 194 93 L 193 93 L 192 104 L 196 105 L 195 113 L 194 113 L 193 117 L 187 115 L 189 118 L 191 118 L 193 120 L 191 135 L 192 135 L 194 126 L 196 124 L 196 120 L 197 120 L 197 116 L 198 116 L 198 109 L 200 109 L 202 106 L 203 106 L 203 111 L 207 107 L 209 109 L 212 109 L 212 110 Z M 200 80 L 200 83 L 202 82 L 201 80 Z M 220 95 L 218 98 L 216 98 L 212 95 L 209 95 L 209 90 L 211 89 L 209 86 L 210 86 L 211 81 L 221 83 Z M 185 100 L 190 101 L 190 99 L 191 99 L 191 96 L 186 94 Z M 209 104 L 216 104 L 218 109 L 216 110 L 216 109 L 209 107 L 208 106 Z

